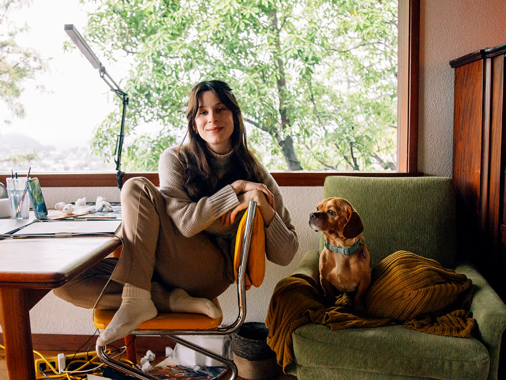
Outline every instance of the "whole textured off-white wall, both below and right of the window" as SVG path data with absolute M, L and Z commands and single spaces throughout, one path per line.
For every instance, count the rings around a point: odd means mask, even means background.
M 504 0 L 420 0 L 420 82 L 418 126 L 418 170 L 428 175 L 451 176 L 453 125 L 453 69 L 449 61 L 486 47 L 506 43 Z M 301 255 L 317 247 L 318 238 L 308 226 L 309 212 L 322 197 L 321 187 L 283 187 L 288 209 L 299 234 L 300 248 L 288 267 L 267 267 L 267 278 L 259 289 L 248 291 L 248 320 L 263 321 L 276 282 L 291 272 Z M 117 200 L 113 188 L 47 188 L 48 203 L 75 201 L 86 196 Z M 235 307 L 229 289 L 220 301 L 224 309 Z M 235 309 L 234 309 L 235 310 Z M 91 334 L 91 312 L 46 296 L 30 313 L 32 332 Z M 70 317 L 69 317 L 70 316 Z M 232 318 L 229 314 L 226 318 Z

